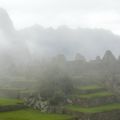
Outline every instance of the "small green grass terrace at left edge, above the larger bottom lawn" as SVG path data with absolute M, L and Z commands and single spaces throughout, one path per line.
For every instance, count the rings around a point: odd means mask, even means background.
M 22 103 L 22 101 L 17 99 L 0 98 L 0 106 L 16 105 L 18 103 Z

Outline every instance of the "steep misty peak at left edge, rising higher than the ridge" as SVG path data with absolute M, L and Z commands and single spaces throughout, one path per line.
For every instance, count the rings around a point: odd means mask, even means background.
M 29 52 L 6 10 L 0 8 L 0 76 L 15 74 L 29 59 Z M 27 61 L 27 62 L 26 62 Z M 25 66 L 24 66 L 25 68 Z M 21 69 L 22 70 L 22 69 Z M 6 77 L 7 77 L 6 76 Z

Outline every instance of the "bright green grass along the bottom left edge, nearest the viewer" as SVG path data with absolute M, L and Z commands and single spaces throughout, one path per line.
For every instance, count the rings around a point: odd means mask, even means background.
M 0 120 L 71 120 L 68 115 L 41 113 L 37 110 L 20 110 L 0 113 Z

